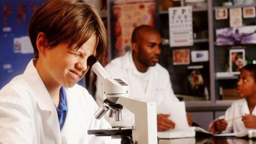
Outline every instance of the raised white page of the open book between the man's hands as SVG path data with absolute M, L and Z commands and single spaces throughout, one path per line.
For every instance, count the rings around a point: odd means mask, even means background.
M 158 105 L 157 113 L 171 114 L 169 119 L 176 124 L 174 130 L 189 129 L 184 101 L 173 102 L 173 103 L 169 103 L 168 105 Z

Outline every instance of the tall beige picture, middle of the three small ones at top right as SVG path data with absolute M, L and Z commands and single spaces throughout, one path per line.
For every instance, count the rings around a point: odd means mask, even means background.
M 229 24 L 230 24 L 230 27 L 242 26 L 242 9 L 241 8 L 229 9 Z

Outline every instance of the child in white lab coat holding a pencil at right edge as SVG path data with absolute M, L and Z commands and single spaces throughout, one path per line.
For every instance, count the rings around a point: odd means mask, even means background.
M 236 133 L 256 128 L 256 65 L 248 64 L 240 70 L 237 92 L 241 99 L 233 102 L 225 116 L 213 121 L 212 132 Z

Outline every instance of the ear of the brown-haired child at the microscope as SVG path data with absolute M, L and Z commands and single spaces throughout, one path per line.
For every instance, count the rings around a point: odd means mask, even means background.
M 45 55 L 46 48 L 47 48 L 46 35 L 43 32 L 39 32 L 39 34 L 37 35 L 37 50 L 39 54 Z

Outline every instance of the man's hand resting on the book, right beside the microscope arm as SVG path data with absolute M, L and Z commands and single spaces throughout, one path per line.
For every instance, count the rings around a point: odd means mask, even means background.
M 175 127 L 175 123 L 168 119 L 169 116 L 170 114 L 157 115 L 158 131 L 165 131 L 165 130 L 173 129 Z

